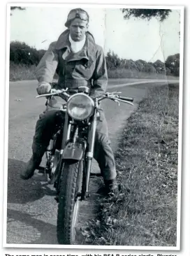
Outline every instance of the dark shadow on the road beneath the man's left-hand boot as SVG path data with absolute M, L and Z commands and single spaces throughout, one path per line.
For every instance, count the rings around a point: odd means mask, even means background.
M 44 177 L 34 176 L 29 180 L 20 178 L 20 171 L 26 167 L 26 163 L 16 159 L 8 159 L 8 199 L 10 204 L 26 204 L 41 199 L 45 195 L 55 196 L 55 190 L 42 185 Z

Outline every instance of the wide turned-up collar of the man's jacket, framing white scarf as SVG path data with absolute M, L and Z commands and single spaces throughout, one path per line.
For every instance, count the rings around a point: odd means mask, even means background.
M 69 30 L 66 29 L 58 38 L 55 48 L 56 50 L 61 50 L 61 49 L 68 49 L 71 46 L 71 43 L 69 41 Z M 94 38 L 91 34 L 89 34 L 88 32 L 86 33 L 86 41 L 85 41 L 85 45 L 82 48 L 82 50 L 80 51 L 80 57 L 87 59 L 91 64 L 95 59 L 95 54 L 96 54 L 96 50 L 95 50 L 95 41 Z

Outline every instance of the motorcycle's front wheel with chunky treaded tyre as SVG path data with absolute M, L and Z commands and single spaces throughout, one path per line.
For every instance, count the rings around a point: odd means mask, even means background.
M 57 241 L 59 244 L 75 243 L 75 227 L 78 222 L 82 187 L 82 160 L 64 162 L 59 183 L 57 212 Z

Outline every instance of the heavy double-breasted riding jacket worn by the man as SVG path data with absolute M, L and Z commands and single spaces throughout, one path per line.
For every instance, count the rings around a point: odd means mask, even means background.
M 108 74 L 105 56 L 101 46 L 96 45 L 92 34 L 86 33 L 85 45 L 80 52 L 71 52 L 68 39 L 69 30 L 64 31 L 57 41 L 50 44 L 45 55 L 36 67 L 39 82 L 52 83 L 54 73 L 59 78 L 56 89 L 68 87 L 77 89 L 86 85 L 90 96 L 96 97 L 105 92 Z

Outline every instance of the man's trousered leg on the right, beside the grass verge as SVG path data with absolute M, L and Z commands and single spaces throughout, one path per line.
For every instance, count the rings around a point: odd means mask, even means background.
M 96 141 L 94 146 L 94 158 L 98 162 L 103 175 L 105 189 L 108 192 L 118 190 L 117 172 L 115 169 L 115 158 L 110 147 L 108 138 L 108 125 L 105 120 L 105 115 L 101 111 L 101 120 L 98 121 L 96 127 Z

